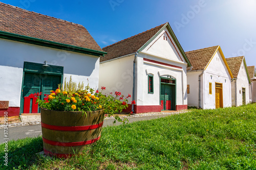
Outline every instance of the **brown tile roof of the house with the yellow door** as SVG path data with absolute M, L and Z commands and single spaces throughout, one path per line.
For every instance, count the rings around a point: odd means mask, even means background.
M 192 70 L 204 69 L 211 57 L 215 54 L 218 47 L 219 45 L 185 52 L 188 60 L 193 66 Z

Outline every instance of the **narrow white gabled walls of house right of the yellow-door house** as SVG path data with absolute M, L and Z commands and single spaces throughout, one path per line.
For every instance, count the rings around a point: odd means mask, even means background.
M 249 80 L 248 80 L 244 62 L 242 62 L 241 66 L 240 66 L 237 79 L 234 79 L 231 82 L 232 106 L 243 105 L 243 92 L 242 92 L 243 88 L 245 88 L 245 103 L 247 105 L 250 103 Z

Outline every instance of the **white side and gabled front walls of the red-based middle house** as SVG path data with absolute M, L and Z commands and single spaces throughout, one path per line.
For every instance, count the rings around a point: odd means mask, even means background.
M 135 102 L 137 106 L 160 106 L 160 77 L 171 76 L 176 81 L 176 105 L 187 105 L 186 67 L 181 52 L 172 44 L 174 41 L 165 28 L 157 33 L 151 43 L 138 52 L 135 62 Z M 170 39 L 169 39 L 170 38 Z M 133 64 L 135 53 L 100 63 L 99 87 L 106 87 L 106 93 L 120 91 L 133 93 Z M 145 61 L 150 59 L 173 66 Z M 148 76 L 153 76 L 154 93 L 148 93 Z M 109 90 L 110 89 L 110 90 Z M 129 100 L 131 103 L 131 98 Z

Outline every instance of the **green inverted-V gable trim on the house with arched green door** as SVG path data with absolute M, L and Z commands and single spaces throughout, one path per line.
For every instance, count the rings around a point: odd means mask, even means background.
M 183 58 L 185 59 L 187 66 L 191 67 L 191 63 L 189 62 L 183 48 L 180 45 L 180 42 L 178 41 L 176 35 L 173 32 L 173 29 L 170 27 L 169 23 L 167 22 L 150 40 L 148 40 L 139 50 L 138 52 L 141 52 L 148 44 L 150 44 L 163 30 L 164 28 L 167 28 L 167 30 L 169 31 L 170 35 L 172 36 L 172 38 L 174 39 L 174 42 L 176 43 L 176 45 L 179 48 L 179 51 L 181 52 Z

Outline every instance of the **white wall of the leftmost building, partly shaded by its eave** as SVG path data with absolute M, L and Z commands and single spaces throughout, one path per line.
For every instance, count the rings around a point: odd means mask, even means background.
M 99 57 L 6 39 L 0 39 L 0 51 L 0 101 L 9 101 L 9 107 L 20 106 L 24 61 L 63 66 L 63 80 L 72 76 L 87 84 L 88 79 L 98 87 Z

